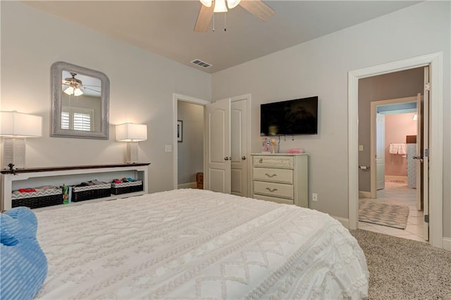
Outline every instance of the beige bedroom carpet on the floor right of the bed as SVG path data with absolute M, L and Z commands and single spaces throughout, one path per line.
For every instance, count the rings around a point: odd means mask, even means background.
M 350 230 L 369 268 L 369 300 L 451 300 L 451 251 L 425 242 Z

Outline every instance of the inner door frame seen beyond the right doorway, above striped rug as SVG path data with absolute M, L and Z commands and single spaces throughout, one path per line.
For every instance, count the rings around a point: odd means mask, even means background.
M 370 137 L 370 194 L 371 198 L 377 198 L 376 189 L 376 113 L 377 107 L 390 104 L 416 102 L 416 96 L 371 101 L 371 137 Z

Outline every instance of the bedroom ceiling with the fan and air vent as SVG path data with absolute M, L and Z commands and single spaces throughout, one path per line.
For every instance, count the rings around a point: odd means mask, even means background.
M 244 0 L 243 0 L 244 1 Z M 185 1 L 23 1 L 83 27 L 207 73 L 328 35 L 421 1 L 265 1 L 262 22 L 237 6 L 215 13 L 215 31 L 193 32 L 202 4 Z M 199 59 L 211 64 L 202 68 Z

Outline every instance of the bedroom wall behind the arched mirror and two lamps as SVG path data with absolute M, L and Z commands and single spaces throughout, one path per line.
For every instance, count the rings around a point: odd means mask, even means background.
M 110 80 L 109 140 L 50 137 L 50 66 L 66 61 Z M 139 158 L 150 192 L 173 189 L 173 93 L 210 99 L 211 75 L 118 42 L 16 1 L 1 1 L 1 110 L 42 115 L 43 136 L 27 139 L 27 166 L 123 163 L 114 125 L 148 125 Z M 173 147 L 176 145 L 172 145 Z M 3 148 L 2 148 L 3 149 Z

